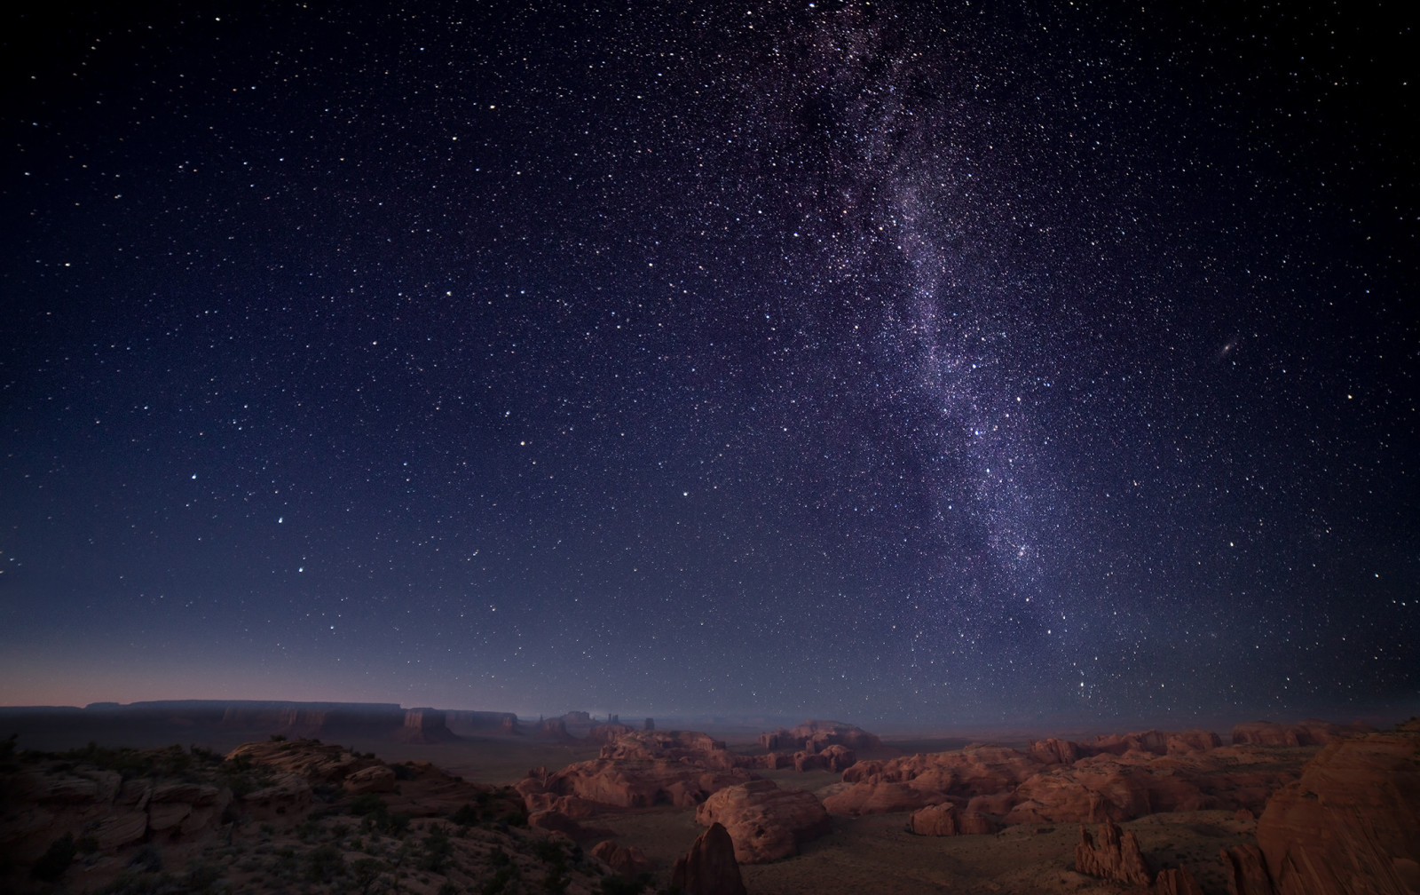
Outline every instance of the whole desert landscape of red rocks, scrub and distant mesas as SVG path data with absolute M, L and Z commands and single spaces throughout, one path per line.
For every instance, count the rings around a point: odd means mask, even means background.
M 1416 719 L 932 749 L 355 703 L 3 717 L 9 892 L 1420 892 Z

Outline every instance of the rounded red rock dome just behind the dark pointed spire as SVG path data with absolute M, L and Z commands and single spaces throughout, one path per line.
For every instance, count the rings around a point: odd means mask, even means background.
M 754 780 L 720 790 L 696 808 L 696 821 L 723 824 L 740 864 L 767 864 L 798 854 L 799 845 L 832 831 L 812 793 Z

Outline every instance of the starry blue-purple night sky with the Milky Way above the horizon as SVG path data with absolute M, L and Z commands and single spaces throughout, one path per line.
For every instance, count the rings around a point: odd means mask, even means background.
M 1406 4 L 4 43 L 0 702 L 1420 705 Z

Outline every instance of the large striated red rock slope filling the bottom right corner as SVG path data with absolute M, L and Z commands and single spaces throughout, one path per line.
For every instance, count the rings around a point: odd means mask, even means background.
M 1278 895 L 1420 892 L 1420 722 L 1323 747 L 1257 841 Z

